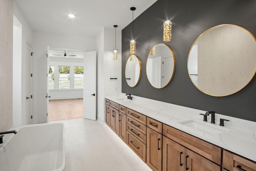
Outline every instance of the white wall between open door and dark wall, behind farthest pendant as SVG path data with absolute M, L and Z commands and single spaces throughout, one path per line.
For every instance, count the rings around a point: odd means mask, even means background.
M 100 123 L 105 122 L 105 101 L 106 94 L 121 93 L 122 89 L 122 32 L 116 30 L 116 49 L 118 49 L 118 60 L 113 60 L 113 50 L 115 48 L 115 29 L 104 28 L 96 37 L 97 47 L 97 82 L 98 100 L 97 114 Z M 117 80 L 110 80 L 117 78 Z

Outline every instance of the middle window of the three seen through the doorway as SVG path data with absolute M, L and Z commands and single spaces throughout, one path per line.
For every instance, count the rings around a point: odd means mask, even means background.
M 70 89 L 69 66 L 59 66 L 59 89 Z

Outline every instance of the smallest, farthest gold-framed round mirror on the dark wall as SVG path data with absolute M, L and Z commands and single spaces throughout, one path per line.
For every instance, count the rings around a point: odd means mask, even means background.
M 140 81 L 141 64 L 138 56 L 131 55 L 126 61 L 125 78 L 130 87 L 135 87 Z

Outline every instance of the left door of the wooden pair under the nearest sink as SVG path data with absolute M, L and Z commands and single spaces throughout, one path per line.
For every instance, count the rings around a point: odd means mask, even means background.
M 163 171 L 185 170 L 185 147 L 163 136 Z

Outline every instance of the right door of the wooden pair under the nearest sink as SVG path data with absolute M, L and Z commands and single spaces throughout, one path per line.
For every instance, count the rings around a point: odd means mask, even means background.
M 220 171 L 219 165 L 187 148 L 185 155 L 185 170 L 187 171 Z

